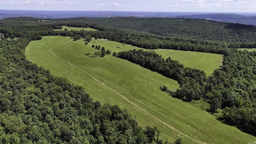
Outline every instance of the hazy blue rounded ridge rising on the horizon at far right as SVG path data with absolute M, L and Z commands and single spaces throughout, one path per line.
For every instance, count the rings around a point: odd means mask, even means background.
M 192 14 L 186 16 L 177 16 L 178 18 L 200 18 L 214 20 L 218 22 L 231 22 L 247 25 L 256 25 L 256 16 L 243 16 L 239 14 Z

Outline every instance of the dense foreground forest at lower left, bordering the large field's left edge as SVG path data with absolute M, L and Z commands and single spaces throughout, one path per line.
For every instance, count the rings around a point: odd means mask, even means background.
M 93 102 L 82 87 L 26 60 L 28 43 L 0 40 L 0 143 L 170 144 L 127 110 Z

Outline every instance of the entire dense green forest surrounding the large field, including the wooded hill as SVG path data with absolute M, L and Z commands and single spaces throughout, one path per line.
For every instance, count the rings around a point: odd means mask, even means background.
M 63 25 L 98 31 L 53 30 Z M 157 131 L 156 128 L 138 127 L 125 110 L 92 102 L 82 88 L 69 84 L 64 78 L 55 78 L 49 71 L 26 61 L 24 47 L 28 42 L 49 35 L 90 36 L 147 49 L 223 54 L 222 67 L 208 77 L 202 71 L 184 68 L 171 58 L 164 59 L 154 52 L 134 50 L 120 52 L 118 57 L 177 80 L 180 88 L 171 92 L 172 96 L 188 101 L 202 99 L 210 104 L 209 111 L 222 122 L 256 135 L 256 52 L 236 50 L 256 47 L 256 26 L 183 18 L 44 20 L 22 17 L 1 20 L 0 33 L 0 140 L 3 143 L 3 140 L 163 142 L 150 135 Z M 19 39 L 6 40 L 15 37 Z

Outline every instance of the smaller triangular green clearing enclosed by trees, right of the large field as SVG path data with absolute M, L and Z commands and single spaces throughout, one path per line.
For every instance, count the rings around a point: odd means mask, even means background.
M 207 76 L 210 76 L 214 70 L 222 66 L 222 55 L 221 54 L 210 54 L 204 52 L 190 52 L 181 50 L 155 50 L 162 57 L 172 60 L 177 60 L 180 64 L 185 67 L 196 68 L 202 70 Z

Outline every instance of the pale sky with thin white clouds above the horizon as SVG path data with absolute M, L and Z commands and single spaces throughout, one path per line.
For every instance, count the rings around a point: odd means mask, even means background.
M 256 12 L 256 0 L 0 0 L 0 10 Z

